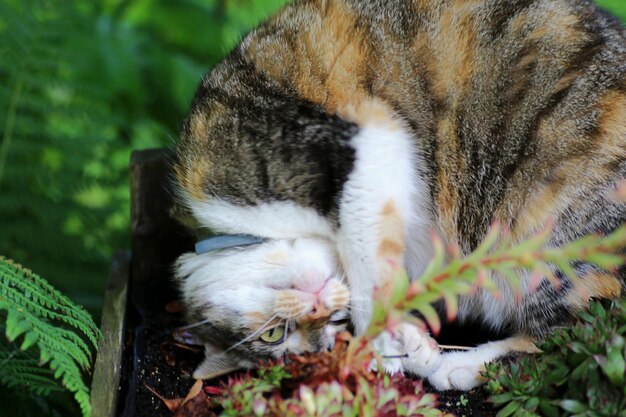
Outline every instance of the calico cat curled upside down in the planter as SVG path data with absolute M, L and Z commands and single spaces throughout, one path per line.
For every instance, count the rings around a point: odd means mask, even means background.
M 512 241 L 553 221 L 554 246 L 611 232 L 625 157 L 626 33 L 591 1 L 296 1 L 204 77 L 177 145 L 181 204 L 244 235 L 176 263 L 206 344 L 195 376 L 362 333 L 390 265 L 419 276 L 433 231 L 464 253 L 495 220 Z M 375 342 L 406 356 L 383 366 L 475 386 L 484 362 L 624 292 L 624 268 L 574 267 L 536 290 L 520 272 L 521 302 L 498 277 L 499 299 L 460 300 L 461 320 L 516 337 L 442 354 L 404 323 Z

